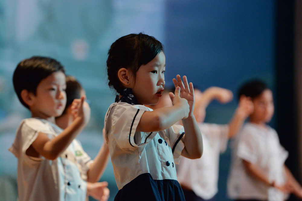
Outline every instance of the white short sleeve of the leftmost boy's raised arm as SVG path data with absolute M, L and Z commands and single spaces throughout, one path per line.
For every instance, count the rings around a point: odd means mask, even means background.
M 39 119 L 30 118 L 23 120 L 18 127 L 14 143 L 8 150 L 17 158 L 21 157 L 21 155 L 26 155 L 26 150 L 37 139 L 40 132 L 53 133 L 50 127 Z

